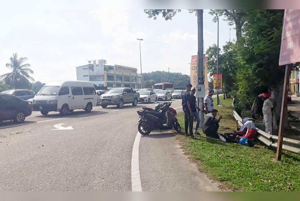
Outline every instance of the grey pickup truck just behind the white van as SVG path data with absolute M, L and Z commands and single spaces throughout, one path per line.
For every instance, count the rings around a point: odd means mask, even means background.
M 134 91 L 133 88 L 119 87 L 112 88 L 101 95 L 100 100 L 103 108 L 106 108 L 108 105 L 116 105 L 118 108 L 122 108 L 124 104 L 128 103 L 137 106 L 139 98 L 140 94 Z

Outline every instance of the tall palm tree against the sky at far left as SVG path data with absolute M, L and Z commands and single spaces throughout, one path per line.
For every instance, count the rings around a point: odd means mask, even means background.
M 30 64 L 23 64 L 27 60 L 27 57 L 18 58 L 18 54 L 13 54 L 10 57 L 10 63 L 6 64 L 6 67 L 11 70 L 10 73 L 6 73 L 0 76 L 0 80 L 4 81 L 5 84 L 11 85 L 12 88 L 30 88 L 30 81 L 35 80 L 29 75 L 33 74 Z

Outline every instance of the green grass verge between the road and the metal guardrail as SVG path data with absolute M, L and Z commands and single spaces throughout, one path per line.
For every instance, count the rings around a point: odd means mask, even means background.
M 216 102 L 216 100 L 214 100 Z M 235 130 L 230 108 L 232 100 L 221 99 L 223 107 L 215 109 L 223 115 L 219 133 Z M 184 131 L 183 113 L 178 114 Z M 283 152 L 281 162 L 274 161 L 275 150 L 256 142 L 254 147 L 223 143 L 221 140 L 197 136 L 192 140 L 182 135 L 179 140 L 186 153 L 199 165 L 199 170 L 233 190 L 300 191 L 300 155 Z

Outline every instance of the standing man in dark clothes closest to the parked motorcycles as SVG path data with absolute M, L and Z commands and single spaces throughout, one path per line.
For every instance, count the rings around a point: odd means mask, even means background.
M 193 111 L 191 108 L 192 98 L 190 95 L 190 89 L 192 85 L 188 83 L 186 85 L 186 91 L 182 97 L 182 110 L 184 112 L 184 128 L 185 128 L 185 136 L 190 136 L 190 138 L 195 139 L 193 135 Z M 187 133 L 189 130 L 189 134 Z

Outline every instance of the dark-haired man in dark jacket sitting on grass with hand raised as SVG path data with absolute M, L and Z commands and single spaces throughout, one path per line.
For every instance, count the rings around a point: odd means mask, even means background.
M 217 112 L 218 110 L 213 109 L 211 110 L 211 113 L 206 114 L 203 125 L 203 133 L 205 133 L 207 137 L 219 138 L 217 131 L 219 129 L 219 122 L 220 119 L 222 119 L 222 116 L 219 116 L 216 119 L 215 117 L 217 116 Z

